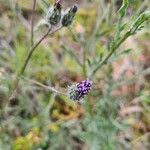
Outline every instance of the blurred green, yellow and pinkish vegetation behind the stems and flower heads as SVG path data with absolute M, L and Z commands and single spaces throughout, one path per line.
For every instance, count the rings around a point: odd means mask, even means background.
M 53 3 L 37 0 L 34 25 Z M 33 0 L 0 0 L 0 150 L 150 149 L 150 21 L 98 70 L 84 103 L 32 82 L 66 93 L 109 53 L 122 1 L 64 0 L 62 5 L 74 3 L 79 10 L 73 24 L 37 48 L 6 109 L 12 81 L 31 46 Z M 149 6 L 149 0 L 129 0 L 123 32 Z M 35 32 L 34 42 L 43 33 Z

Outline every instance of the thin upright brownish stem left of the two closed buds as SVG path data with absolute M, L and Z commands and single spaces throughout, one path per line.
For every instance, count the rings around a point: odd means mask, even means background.
M 31 18 L 31 46 L 34 45 L 34 12 L 35 12 L 36 0 L 33 0 L 33 8 L 32 8 L 32 18 Z

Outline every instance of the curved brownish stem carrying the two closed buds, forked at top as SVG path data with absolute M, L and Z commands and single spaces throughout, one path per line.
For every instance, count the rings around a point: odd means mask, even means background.
M 25 69 L 26 69 L 26 67 L 27 67 L 27 65 L 28 65 L 28 63 L 29 63 L 29 60 L 30 60 L 30 58 L 31 58 L 31 56 L 32 56 L 32 54 L 33 54 L 33 52 L 36 50 L 36 48 L 39 46 L 39 44 L 40 44 L 49 34 L 51 35 L 51 34 L 55 33 L 55 32 L 58 31 L 60 28 L 61 28 L 61 27 L 58 27 L 57 29 L 53 30 L 52 32 L 50 32 L 51 29 L 48 29 L 47 33 L 46 33 L 33 47 L 31 47 L 31 49 L 29 50 L 29 53 L 28 53 L 28 55 L 27 55 L 27 57 L 26 57 L 26 59 L 25 59 L 25 61 L 24 61 L 23 66 L 21 67 L 19 73 L 18 73 L 17 76 L 16 76 L 16 79 L 15 79 L 14 82 L 13 82 L 13 87 L 12 87 L 12 91 L 11 91 L 11 94 L 10 94 L 10 96 L 9 96 L 9 99 L 11 99 L 11 97 L 13 97 L 14 92 L 15 92 L 16 88 L 18 87 L 18 84 L 19 84 L 19 81 L 20 81 L 20 77 L 23 75 L 23 73 L 24 73 L 24 71 L 25 71 Z

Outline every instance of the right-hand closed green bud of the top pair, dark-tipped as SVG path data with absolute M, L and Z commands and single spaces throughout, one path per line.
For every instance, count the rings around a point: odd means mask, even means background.
M 67 27 L 71 25 L 77 10 L 78 10 L 77 6 L 74 5 L 72 8 L 69 9 L 69 11 L 67 11 L 67 13 L 63 16 L 63 19 L 62 19 L 63 26 Z

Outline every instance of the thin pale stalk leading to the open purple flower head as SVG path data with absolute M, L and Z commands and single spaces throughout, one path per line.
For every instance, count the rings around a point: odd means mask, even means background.
M 33 84 L 36 84 L 36 85 L 38 85 L 38 86 L 40 86 L 40 87 L 42 87 L 42 88 L 44 88 L 44 89 L 46 89 L 46 90 L 48 90 L 48 91 L 54 92 L 54 93 L 56 93 L 57 95 L 65 95 L 65 96 L 67 95 L 67 94 L 65 94 L 65 93 L 63 93 L 63 92 L 60 92 L 60 91 L 56 90 L 54 87 L 44 85 L 44 84 L 42 84 L 42 83 L 40 83 L 40 82 L 38 82 L 38 81 L 35 81 L 35 80 L 32 80 L 32 79 L 27 79 L 27 78 L 25 78 L 25 77 L 23 77 L 23 79 L 25 79 L 25 80 L 27 80 L 27 81 L 33 83 Z

